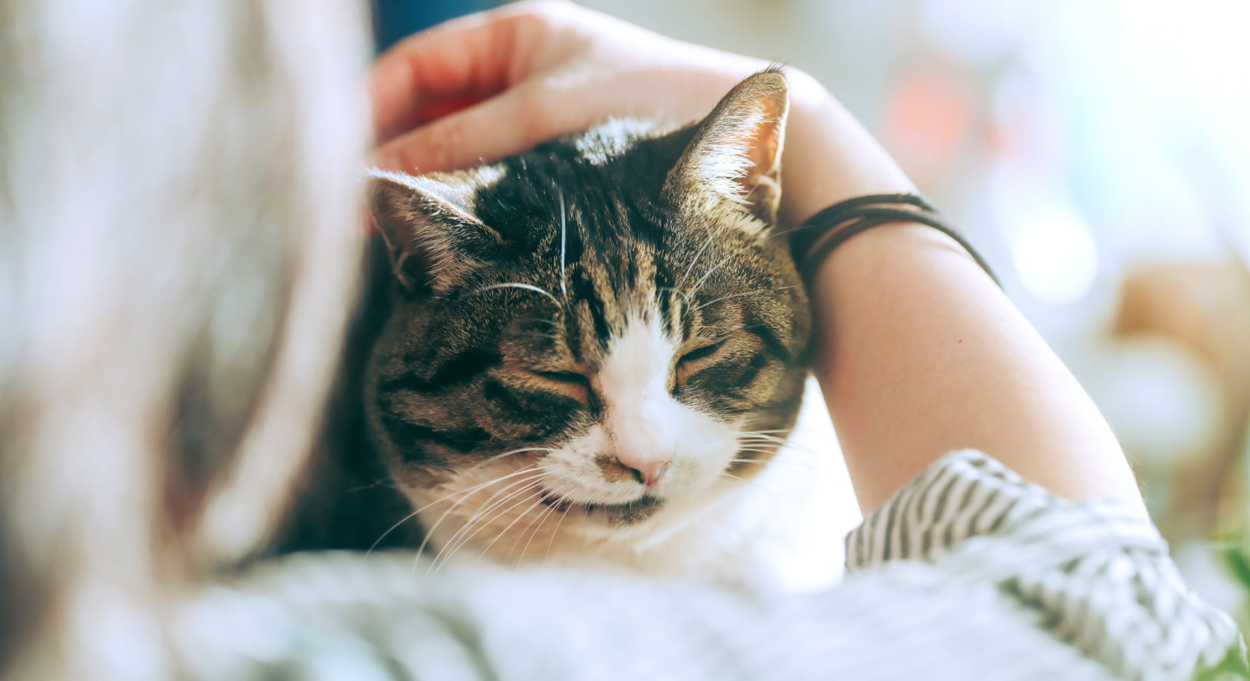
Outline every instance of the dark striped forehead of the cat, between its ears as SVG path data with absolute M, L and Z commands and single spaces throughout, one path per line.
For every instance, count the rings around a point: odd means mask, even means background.
M 590 270 L 595 287 L 636 294 L 690 286 L 706 267 L 720 279 L 776 260 L 759 240 L 764 224 L 745 211 L 679 210 L 664 196 L 690 136 L 690 127 L 610 120 L 454 180 L 472 187 L 466 204 L 508 244 L 495 274 L 515 281 L 545 287 L 561 269 Z

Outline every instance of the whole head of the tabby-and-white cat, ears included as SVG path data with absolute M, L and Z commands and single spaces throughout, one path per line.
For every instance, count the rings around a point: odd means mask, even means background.
M 760 470 L 810 335 L 771 229 L 785 97 L 764 72 L 672 132 L 616 122 L 468 172 L 375 174 L 396 302 L 366 409 L 435 541 L 638 537 Z

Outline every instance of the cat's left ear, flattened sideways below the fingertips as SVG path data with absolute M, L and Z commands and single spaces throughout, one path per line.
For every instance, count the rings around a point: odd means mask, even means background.
M 368 191 L 391 269 L 410 294 L 451 289 L 502 242 L 472 214 L 470 189 L 375 170 Z

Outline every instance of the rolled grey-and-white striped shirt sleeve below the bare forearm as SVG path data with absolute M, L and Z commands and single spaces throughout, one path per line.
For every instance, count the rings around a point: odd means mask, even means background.
M 1058 499 L 976 451 L 935 462 L 846 537 L 848 572 L 896 561 L 998 584 L 1125 679 L 1245 674 L 1236 626 L 1185 586 L 1149 520 Z

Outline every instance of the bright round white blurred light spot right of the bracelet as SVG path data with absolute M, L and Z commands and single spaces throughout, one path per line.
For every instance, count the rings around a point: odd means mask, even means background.
M 1024 222 L 1011 239 L 1011 256 L 1029 292 L 1055 305 L 1079 300 L 1098 275 L 1098 246 L 1076 215 Z

